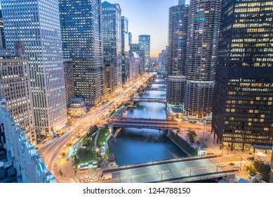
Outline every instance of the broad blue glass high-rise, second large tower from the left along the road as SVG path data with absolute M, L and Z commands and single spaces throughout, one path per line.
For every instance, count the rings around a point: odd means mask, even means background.
M 60 0 L 64 58 L 72 58 L 75 96 L 93 106 L 105 98 L 101 1 Z

